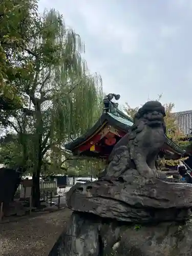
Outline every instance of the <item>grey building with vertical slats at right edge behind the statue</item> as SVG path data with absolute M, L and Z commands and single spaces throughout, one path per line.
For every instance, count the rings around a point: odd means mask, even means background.
M 184 135 L 190 134 L 192 131 L 192 110 L 176 112 L 174 113 L 177 117 L 179 130 Z

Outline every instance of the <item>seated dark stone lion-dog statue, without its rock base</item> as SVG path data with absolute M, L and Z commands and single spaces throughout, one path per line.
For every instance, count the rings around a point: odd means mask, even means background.
M 165 109 L 158 101 L 148 101 L 134 116 L 134 124 L 114 146 L 105 176 L 119 177 L 129 169 L 157 177 L 156 159 L 165 142 Z

